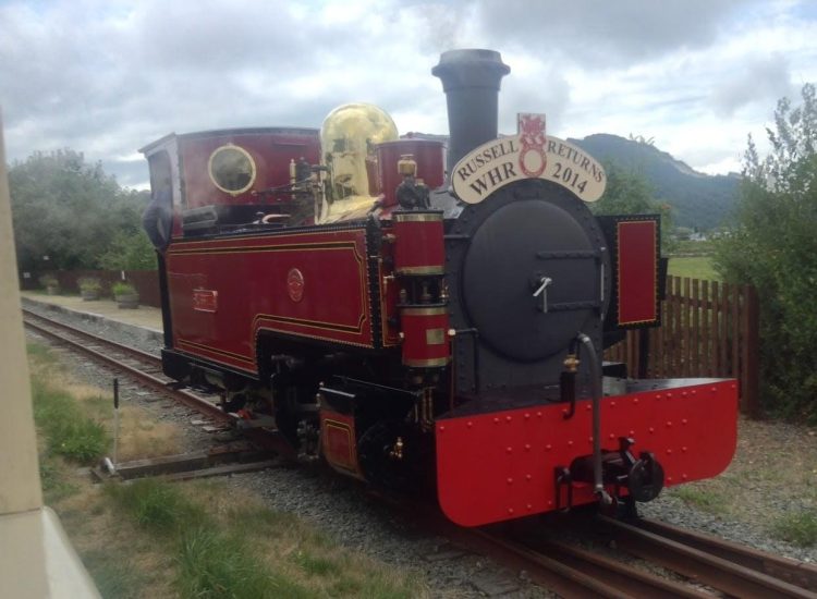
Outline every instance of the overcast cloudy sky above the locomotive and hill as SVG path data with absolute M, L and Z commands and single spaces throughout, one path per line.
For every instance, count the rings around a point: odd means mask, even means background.
M 68 147 L 143 187 L 136 148 L 170 132 L 318 127 L 368 101 L 401 134 L 447 133 L 430 70 L 453 48 L 511 66 L 503 133 L 545 112 L 549 134 L 642 135 L 725 173 L 817 82 L 817 2 L 0 0 L 7 157 Z

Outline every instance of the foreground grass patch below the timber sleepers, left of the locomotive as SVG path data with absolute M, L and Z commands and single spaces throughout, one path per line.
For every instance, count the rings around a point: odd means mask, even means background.
M 268 510 L 219 480 L 146 479 L 109 485 L 103 494 L 146 543 L 167 549 L 170 584 L 181 597 L 424 595 L 408 573 L 350 553 L 294 516 Z

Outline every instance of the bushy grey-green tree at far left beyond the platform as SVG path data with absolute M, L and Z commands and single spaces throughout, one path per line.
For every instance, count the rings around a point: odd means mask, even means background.
M 118 232 L 139 230 L 147 203 L 71 149 L 12 164 L 9 188 L 21 271 L 99 268 Z

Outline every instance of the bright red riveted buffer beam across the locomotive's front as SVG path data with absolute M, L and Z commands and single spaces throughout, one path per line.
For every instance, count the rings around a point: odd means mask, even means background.
M 645 383 L 648 390 L 641 390 Z M 643 381 L 641 389 L 601 401 L 601 447 L 649 451 L 668 487 L 721 473 L 734 453 L 734 380 Z M 557 468 L 593 450 L 592 405 L 580 401 L 564 419 L 563 404 L 451 415 L 436 423 L 440 506 L 453 522 L 479 526 L 556 510 Z M 596 501 L 593 486 L 571 482 L 571 503 Z M 611 484 L 609 492 L 614 492 Z M 563 496 L 564 497 L 564 496 Z M 564 506 L 562 503 L 561 506 Z

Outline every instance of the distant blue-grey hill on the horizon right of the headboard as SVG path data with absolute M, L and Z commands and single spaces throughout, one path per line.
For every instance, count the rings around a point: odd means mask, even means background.
M 699 173 L 649 144 L 607 133 L 569 142 L 597 160 L 644 175 L 655 187 L 656 197 L 672 206 L 672 221 L 678 227 L 714 229 L 729 218 L 734 207 L 740 181 L 736 173 Z

